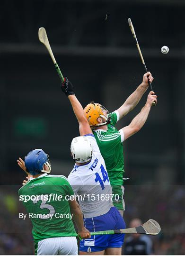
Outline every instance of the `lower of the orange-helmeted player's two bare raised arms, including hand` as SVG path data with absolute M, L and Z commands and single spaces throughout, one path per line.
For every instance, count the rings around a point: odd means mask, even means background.
M 123 134 L 124 134 L 124 140 L 131 137 L 133 134 L 138 132 L 143 127 L 143 125 L 145 124 L 148 118 L 153 101 L 157 103 L 157 96 L 154 95 L 153 91 L 150 91 L 147 98 L 147 102 L 145 106 L 141 109 L 141 112 L 132 120 L 130 125 L 122 128 Z

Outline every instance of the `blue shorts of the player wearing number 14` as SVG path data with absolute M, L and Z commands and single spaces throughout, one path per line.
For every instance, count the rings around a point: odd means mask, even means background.
M 103 215 L 84 219 L 85 227 L 90 231 L 125 229 L 123 217 L 115 207 Z M 106 248 L 122 247 L 124 234 L 96 235 L 80 241 L 79 250 L 83 252 L 98 252 Z

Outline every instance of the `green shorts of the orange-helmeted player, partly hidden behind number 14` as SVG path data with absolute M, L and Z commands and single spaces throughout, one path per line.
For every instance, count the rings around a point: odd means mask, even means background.
M 124 187 L 122 185 L 112 186 L 113 190 L 113 204 L 118 210 L 125 210 L 125 204 L 123 199 Z

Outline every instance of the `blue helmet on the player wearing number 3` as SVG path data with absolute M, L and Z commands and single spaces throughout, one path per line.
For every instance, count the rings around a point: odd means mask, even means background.
M 29 174 L 37 175 L 42 173 L 49 174 L 51 172 L 51 164 L 49 155 L 45 154 L 42 149 L 34 149 L 30 151 L 25 157 L 25 166 Z M 49 171 L 43 170 L 43 165 L 49 167 Z

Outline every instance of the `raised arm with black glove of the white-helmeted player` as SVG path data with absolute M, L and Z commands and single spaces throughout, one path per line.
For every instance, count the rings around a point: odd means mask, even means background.
M 84 110 L 83 110 L 79 100 L 74 95 L 72 83 L 67 78 L 65 78 L 65 82 L 62 83 L 61 88 L 62 88 L 62 91 L 66 94 L 66 96 L 70 100 L 70 104 L 72 106 L 74 114 L 79 122 L 80 136 L 84 136 L 89 133 L 92 134 L 92 130 L 88 124 L 88 120 L 85 117 Z

